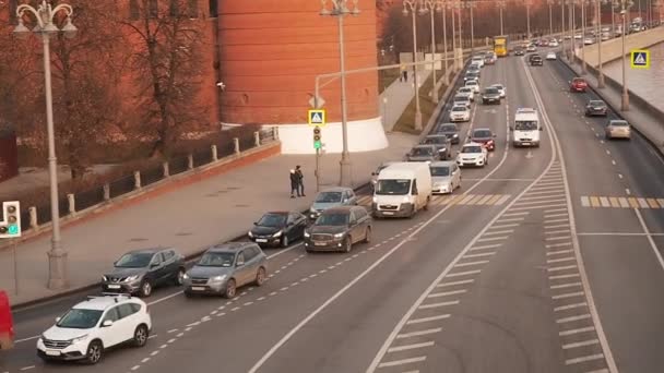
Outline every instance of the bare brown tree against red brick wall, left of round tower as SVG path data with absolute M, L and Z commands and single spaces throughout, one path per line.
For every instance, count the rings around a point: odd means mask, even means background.
M 188 0 L 134 0 L 131 7 L 132 17 L 119 22 L 133 40 L 141 129 L 154 140 L 152 157 L 161 157 L 170 153 L 186 128 L 208 121 L 209 108 L 197 97 L 203 29 L 192 20 L 198 10 Z

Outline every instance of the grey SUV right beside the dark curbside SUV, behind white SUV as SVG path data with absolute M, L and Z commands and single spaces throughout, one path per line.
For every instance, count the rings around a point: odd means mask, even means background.
M 185 296 L 216 294 L 235 298 L 237 289 L 261 286 L 268 275 L 268 256 L 253 242 L 228 242 L 205 251 L 185 276 Z

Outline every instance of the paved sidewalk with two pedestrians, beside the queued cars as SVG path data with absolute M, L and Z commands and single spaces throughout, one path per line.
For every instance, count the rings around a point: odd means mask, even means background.
M 399 108 L 405 108 L 412 98 L 410 83 L 404 88 L 405 83 L 396 81 L 387 89 L 388 95 L 394 95 L 389 99 L 395 107 L 390 108 L 391 116 L 396 119 L 401 116 Z M 405 92 L 411 95 L 398 96 Z M 388 141 L 386 149 L 351 155 L 355 186 L 368 182 L 381 163 L 402 159 L 417 136 L 392 133 Z M 339 161 L 339 154 L 321 157 L 321 189 L 337 183 Z M 99 281 L 112 262 L 129 250 L 168 245 L 191 255 L 242 234 L 268 210 L 306 209 L 316 195 L 315 163 L 312 155 L 275 156 L 63 229 L 62 245 L 69 252 L 67 290 Z M 292 200 L 288 170 L 296 165 L 304 169 L 307 196 Z M 50 234 L 17 246 L 19 293 L 13 251 L 0 251 L 0 289 L 7 290 L 12 304 L 59 293 L 46 288 L 49 249 Z

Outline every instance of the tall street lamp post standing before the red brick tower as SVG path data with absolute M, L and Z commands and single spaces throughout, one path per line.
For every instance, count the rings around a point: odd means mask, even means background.
M 348 152 L 348 117 L 346 110 L 346 61 L 344 47 L 344 17 L 346 15 L 359 15 L 357 2 L 359 0 L 331 0 L 332 9 L 327 8 L 327 0 L 321 0 L 322 8 L 320 15 L 335 16 L 337 20 L 339 31 L 339 68 L 341 72 L 341 131 L 342 131 L 342 152 L 340 165 L 340 180 L 342 186 L 351 186 L 353 184 L 353 168 L 351 163 L 351 153 Z M 348 9 L 348 3 L 353 3 L 353 9 Z

